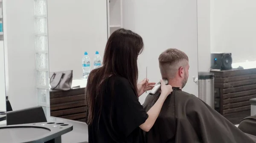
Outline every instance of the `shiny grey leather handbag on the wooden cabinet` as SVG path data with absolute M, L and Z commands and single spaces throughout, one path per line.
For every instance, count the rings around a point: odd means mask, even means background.
M 49 74 L 52 90 L 70 90 L 72 87 L 73 70 L 53 72 Z

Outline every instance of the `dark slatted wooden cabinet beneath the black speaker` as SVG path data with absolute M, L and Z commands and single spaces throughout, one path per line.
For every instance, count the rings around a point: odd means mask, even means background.
M 214 73 L 215 109 L 234 124 L 250 116 L 250 99 L 256 98 L 256 68 Z

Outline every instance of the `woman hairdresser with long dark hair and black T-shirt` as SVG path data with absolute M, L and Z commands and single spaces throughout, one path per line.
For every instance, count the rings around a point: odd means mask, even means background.
M 92 70 L 87 81 L 89 143 L 144 142 L 140 129 L 151 129 L 172 87 L 161 80 L 161 95 L 145 112 L 138 97 L 153 86 L 147 79 L 137 85 L 142 51 L 142 37 L 130 30 L 122 28 L 109 37 L 102 67 Z

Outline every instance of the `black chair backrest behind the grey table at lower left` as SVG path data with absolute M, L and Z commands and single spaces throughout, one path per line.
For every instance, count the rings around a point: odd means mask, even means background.
M 6 112 L 7 125 L 40 122 L 47 122 L 44 109 L 41 106 Z

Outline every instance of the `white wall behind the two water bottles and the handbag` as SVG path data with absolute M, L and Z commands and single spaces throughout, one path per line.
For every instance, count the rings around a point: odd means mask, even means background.
M 106 0 L 48 0 L 50 72 L 73 70 L 73 79 L 82 77 L 87 51 L 93 69 L 93 56 L 103 57 L 107 42 Z

